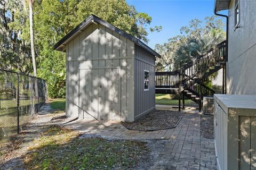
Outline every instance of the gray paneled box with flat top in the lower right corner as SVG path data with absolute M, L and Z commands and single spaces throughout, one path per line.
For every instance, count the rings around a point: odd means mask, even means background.
M 256 169 L 256 96 L 214 95 L 217 168 Z

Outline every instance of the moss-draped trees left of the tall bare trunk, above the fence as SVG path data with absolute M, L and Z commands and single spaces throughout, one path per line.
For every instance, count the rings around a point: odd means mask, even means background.
M 21 1 L 0 1 L 0 67 L 29 73 L 31 72 L 30 47 L 21 38 L 20 25 L 25 24 Z M 19 20 L 19 24 L 14 22 Z

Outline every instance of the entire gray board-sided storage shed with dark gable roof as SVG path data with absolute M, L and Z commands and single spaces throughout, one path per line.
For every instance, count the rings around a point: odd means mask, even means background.
M 66 52 L 66 114 L 134 121 L 155 109 L 155 57 L 139 39 L 90 15 L 57 44 Z

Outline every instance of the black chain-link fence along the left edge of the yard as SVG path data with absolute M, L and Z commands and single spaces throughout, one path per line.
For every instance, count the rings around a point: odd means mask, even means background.
M 0 141 L 19 134 L 46 99 L 43 79 L 0 69 Z

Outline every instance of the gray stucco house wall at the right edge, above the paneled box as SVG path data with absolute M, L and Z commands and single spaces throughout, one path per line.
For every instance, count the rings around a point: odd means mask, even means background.
M 234 7 L 232 0 L 228 12 L 227 94 L 256 95 L 256 1 L 239 1 L 237 29 Z

